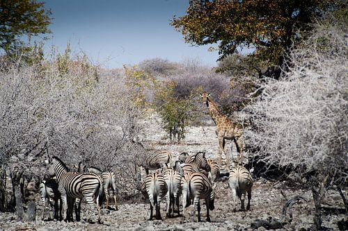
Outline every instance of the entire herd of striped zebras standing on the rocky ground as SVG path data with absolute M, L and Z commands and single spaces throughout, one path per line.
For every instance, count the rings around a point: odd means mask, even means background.
M 143 166 L 146 176 L 142 179 L 141 194 L 150 200 L 150 219 L 161 219 L 160 204 L 166 198 L 166 217 L 177 213 L 180 216 L 180 197 L 182 201 L 182 221 L 185 220 L 185 209 L 193 205 L 193 221 L 200 221 L 200 200 L 205 200 L 206 221 L 210 221 L 209 210 L 214 209 L 215 189 L 220 174 L 219 164 L 206 158 L 205 153 L 195 155 L 181 153 L 175 162 L 168 151 L 147 149 L 140 142 L 130 141 L 126 144 L 129 151 L 141 153 L 137 164 Z M 142 156 L 142 157 L 140 157 Z M 87 167 L 80 162 L 77 171 L 69 171 L 68 167 L 58 157 L 49 157 L 46 161 L 48 169 L 44 180 L 40 184 L 40 194 L 45 216 L 46 203 L 54 206 L 54 218 L 73 221 L 81 219 L 81 200 L 85 198 L 90 209 L 96 209 L 97 221 L 100 223 L 100 205 L 102 193 L 106 198 L 106 208 L 109 207 L 109 189 L 115 200 L 116 210 L 116 175 L 113 171 L 101 171 L 93 166 Z M 174 163 L 174 164 L 173 164 Z M 152 170 L 152 173 L 150 173 Z M 242 161 L 230 166 L 228 184 L 232 190 L 232 200 L 236 207 L 237 196 L 241 200 L 244 210 L 244 200 L 248 195 L 250 209 L 251 187 L 253 178 L 251 173 L 242 166 Z M 52 205 L 51 200 L 54 201 Z M 155 208 L 155 215 L 153 209 Z M 63 211 L 63 214 L 62 214 Z M 196 219 L 196 212 L 198 213 Z M 88 217 L 87 220 L 89 220 Z

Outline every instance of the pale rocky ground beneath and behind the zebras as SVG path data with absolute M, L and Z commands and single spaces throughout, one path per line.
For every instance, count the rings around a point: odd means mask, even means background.
M 214 126 L 190 128 L 187 138 L 182 144 L 169 144 L 168 140 L 165 139 L 165 132 L 161 131 L 160 128 L 154 129 L 158 132 L 152 133 L 152 136 L 144 136 L 145 142 L 156 148 L 166 148 L 175 157 L 182 151 L 189 153 L 206 151 L 208 157 L 214 157 L 217 152 Z M 293 220 L 291 223 L 288 222 L 290 218 L 288 213 L 287 217 L 283 218 L 282 211 L 286 200 L 280 193 L 282 190 L 287 198 L 303 196 L 307 200 L 302 200 L 301 203 L 292 207 Z M 187 209 L 187 218 L 184 221 L 182 221 L 181 216 L 166 219 L 164 202 L 161 203 L 163 221 L 147 221 L 150 216 L 150 205 L 139 200 L 138 203 L 134 201 L 121 203 L 118 205 L 118 211 L 102 209 L 102 224 L 86 223 L 85 221 L 74 223 L 42 221 L 42 204 L 38 195 L 36 197 L 38 210 L 35 222 L 17 222 L 15 214 L 0 213 L 0 230 L 253 230 L 252 223 L 258 220 L 269 221 L 269 218 L 286 222 L 283 228 L 278 230 L 306 230 L 313 223 L 314 205 L 312 194 L 308 189 L 294 189 L 285 182 L 271 182 L 264 178 L 255 178 L 252 194 L 250 211 L 239 211 L 240 204 L 235 210 L 232 205 L 227 176 L 223 176 L 216 188 L 215 209 L 210 212 L 212 219 L 210 223 L 193 222 L 192 206 Z M 328 191 L 324 207 L 326 209 L 323 210 L 323 226 L 331 230 L 339 230 L 338 221 L 347 220 L 347 217 L 342 213 L 344 205 L 337 191 Z M 86 208 L 83 211 L 86 211 Z M 205 211 L 205 205 L 203 205 L 201 214 L 203 221 L 205 220 Z M 84 215 L 82 216 L 84 217 Z M 92 216 L 92 218 L 96 219 L 96 216 Z M 266 230 L 266 228 L 260 227 L 256 230 Z

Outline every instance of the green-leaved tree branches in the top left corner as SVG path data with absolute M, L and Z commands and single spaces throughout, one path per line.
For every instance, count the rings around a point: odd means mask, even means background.
M 35 0 L 0 1 L 0 49 L 9 53 L 23 46 L 22 36 L 51 33 L 51 11 Z

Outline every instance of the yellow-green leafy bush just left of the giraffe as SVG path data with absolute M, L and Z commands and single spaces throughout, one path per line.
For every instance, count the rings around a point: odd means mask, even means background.
M 189 96 L 180 99 L 175 94 L 175 87 L 177 87 L 175 81 L 164 82 L 164 85 L 157 86 L 154 106 L 171 140 L 180 142 L 184 139 L 185 128 L 198 119 L 193 98 L 201 89 L 191 89 Z

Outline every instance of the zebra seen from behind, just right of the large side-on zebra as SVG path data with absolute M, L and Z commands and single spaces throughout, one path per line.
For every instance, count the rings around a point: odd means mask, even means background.
M 94 166 L 87 167 L 88 172 L 95 173 L 102 178 L 102 185 L 106 197 L 106 208 L 109 208 L 109 189 L 113 191 L 113 200 L 115 200 L 115 209 L 118 210 L 116 200 L 116 175 L 113 171 L 102 171 Z

